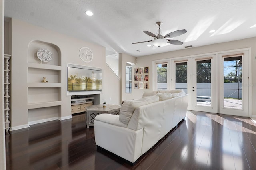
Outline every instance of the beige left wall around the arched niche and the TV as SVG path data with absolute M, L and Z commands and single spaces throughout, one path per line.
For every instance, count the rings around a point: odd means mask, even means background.
M 119 79 L 107 67 L 105 47 L 84 42 L 58 32 L 33 26 L 20 20 L 10 21 L 11 31 L 11 127 L 24 128 L 28 125 L 28 46 L 30 42 L 39 40 L 52 43 L 60 49 L 61 55 L 61 111 L 60 119 L 71 115 L 70 96 L 66 96 L 66 63 L 98 67 L 103 69 L 103 94 L 100 103 L 119 104 Z M 94 58 L 90 63 L 83 62 L 78 52 L 81 47 L 92 50 Z

